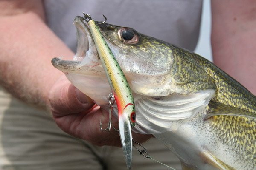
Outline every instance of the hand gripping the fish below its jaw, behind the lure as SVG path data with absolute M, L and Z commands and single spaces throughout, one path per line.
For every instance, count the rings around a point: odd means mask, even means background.
M 108 112 L 94 105 L 92 99 L 75 88 L 63 75 L 51 88 L 49 107 L 56 124 L 66 133 L 92 144 L 121 147 L 119 133 L 100 130 L 100 120 L 108 124 Z M 112 118 L 114 127 L 118 119 Z M 133 133 L 137 142 L 145 142 L 151 135 Z

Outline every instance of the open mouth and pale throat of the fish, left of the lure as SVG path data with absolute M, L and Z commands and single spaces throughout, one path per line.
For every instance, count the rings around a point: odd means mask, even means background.
M 105 76 L 98 52 L 83 17 L 73 22 L 77 31 L 77 52 L 73 60 L 53 58 L 52 65 L 62 71 L 80 91 L 93 99 L 97 105 L 108 103 L 111 88 Z

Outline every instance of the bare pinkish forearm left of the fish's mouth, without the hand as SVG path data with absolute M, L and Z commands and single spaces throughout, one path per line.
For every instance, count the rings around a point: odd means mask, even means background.
M 0 16 L 0 84 L 23 101 L 45 107 L 50 88 L 62 75 L 52 67 L 52 57 L 73 52 L 46 26 L 42 6 L 16 11 Z

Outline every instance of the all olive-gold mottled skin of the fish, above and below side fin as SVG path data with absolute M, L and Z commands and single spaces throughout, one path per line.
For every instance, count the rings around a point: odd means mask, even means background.
M 157 67 L 161 67 L 163 62 L 163 60 L 157 62 L 159 56 L 172 58 L 172 65 L 175 66 L 171 67 L 169 72 L 175 75 L 172 78 L 176 88 L 179 89 L 177 91 L 179 94 L 214 89 L 216 94 L 212 101 L 256 114 L 256 97 L 235 79 L 198 54 L 142 34 L 140 43 L 125 45 L 120 43 L 117 37 L 118 26 L 106 24 L 102 25 L 101 29 L 105 37 L 119 48 L 128 48 L 130 53 L 138 56 L 142 51 L 143 55 L 150 54 L 151 59 L 148 62 L 155 62 Z M 207 108 L 210 110 L 209 106 Z M 238 157 L 244 162 L 252 164 L 247 168 L 256 168 L 256 119 L 220 115 L 210 117 L 207 123 L 211 133 L 223 143 L 230 145 L 233 154 L 239 155 Z

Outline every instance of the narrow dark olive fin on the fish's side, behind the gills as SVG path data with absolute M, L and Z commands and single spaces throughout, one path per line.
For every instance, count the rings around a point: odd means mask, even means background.
M 205 116 L 205 119 L 208 119 L 211 116 L 217 116 L 217 115 L 242 116 L 242 117 L 247 117 L 251 119 L 256 119 L 256 113 L 245 111 L 229 105 L 224 105 L 221 103 L 211 101 L 209 102 L 208 106 L 210 107 L 210 111 Z

